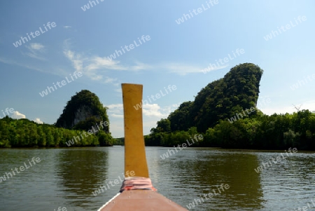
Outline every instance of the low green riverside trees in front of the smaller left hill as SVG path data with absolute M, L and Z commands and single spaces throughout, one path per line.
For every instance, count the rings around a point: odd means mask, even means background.
M 67 147 L 66 142 L 81 134 L 83 130 L 57 128 L 28 119 L 16 120 L 8 116 L 0 119 L 0 147 Z M 102 130 L 83 137 L 71 147 L 111 146 L 114 142 L 113 137 Z

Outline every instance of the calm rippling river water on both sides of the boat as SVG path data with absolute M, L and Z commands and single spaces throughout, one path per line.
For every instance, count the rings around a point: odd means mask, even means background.
M 146 147 L 153 186 L 186 208 L 196 200 L 198 205 L 190 210 L 294 210 L 303 206 L 315 210 L 314 153 L 289 154 L 257 173 L 261 162 L 272 161 L 284 151 L 186 148 L 163 160 L 160 156 L 169 149 Z M 41 161 L 30 166 L 33 157 Z M 24 163 L 28 169 L 0 182 L 1 211 L 97 210 L 120 189 L 119 181 L 97 196 L 92 194 L 106 182 L 123 178 L 124 147 L 0 149 L 0 177 Z M 198 202 L 202 194 L 213 193 L 221 184 L 230 188 Z

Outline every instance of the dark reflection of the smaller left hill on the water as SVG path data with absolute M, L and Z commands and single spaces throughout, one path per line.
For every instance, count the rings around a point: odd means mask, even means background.
M 73 149 L 60 151 L 56 158 L 58 185 L 71 206 L 90 203 L 88 198 L 108 176 L 108 151 Z

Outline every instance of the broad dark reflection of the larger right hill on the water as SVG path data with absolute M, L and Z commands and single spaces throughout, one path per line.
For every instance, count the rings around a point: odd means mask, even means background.
M 188 149 L 162 163 L 174 180 L 173 185 L 180 182 L 182 190 L 179 191 L 187 192 L 188 197 L 181 203 L 185 207 L 203 194 L 218 192 L 221 184 L 228 184 L 230 188 L 209 200 L 204 199 L 194 210 L 226 210 L 226 207 L 259 210 L 262 207 L 260 175 L 253 170 L 258 165 L 256 155 Z

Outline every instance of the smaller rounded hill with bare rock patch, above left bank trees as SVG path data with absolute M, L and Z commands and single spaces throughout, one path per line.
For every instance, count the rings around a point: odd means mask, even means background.
M 97 95 L 89 90 L 82 90 L 67 102 L 55 125 L 67 129 L 89 130 L 100 121 L 109 121 L 106 108 L 99 102 Z M 109 127 L 104 127 L 104 131 L 109 132 Z

